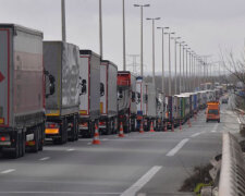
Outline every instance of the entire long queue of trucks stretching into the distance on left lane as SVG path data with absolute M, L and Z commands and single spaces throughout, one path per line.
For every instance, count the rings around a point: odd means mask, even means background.
M 179 126 L 223 88 L 166 96 L 91 50 L 0 24 L 0 151 L 12 158 L 78 137 Z

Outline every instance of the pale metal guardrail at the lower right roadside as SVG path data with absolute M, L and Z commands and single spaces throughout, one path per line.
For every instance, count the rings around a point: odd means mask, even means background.
M 245 161 L 237 139 L 223 134 L 219 196 L 245 196 Z

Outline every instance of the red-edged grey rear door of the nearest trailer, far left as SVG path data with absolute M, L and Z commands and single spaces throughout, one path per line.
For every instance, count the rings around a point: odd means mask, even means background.
M 9 126 L 10 118 L 10 29 L 0 28 L 0 126 Z

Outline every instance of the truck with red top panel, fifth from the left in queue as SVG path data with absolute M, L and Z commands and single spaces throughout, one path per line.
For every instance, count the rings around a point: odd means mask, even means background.
M 127 71 L 118 72 L 119 124 L 125 133 L 136 128 L 136 77 Z

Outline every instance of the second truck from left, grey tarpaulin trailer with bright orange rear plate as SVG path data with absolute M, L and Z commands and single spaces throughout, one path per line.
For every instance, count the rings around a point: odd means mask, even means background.
M 46 74 L 51 94 L 46 96 L 46 138 L 56 144 L 78 139 L 79 50 L 63 41 L 44 41 Z

